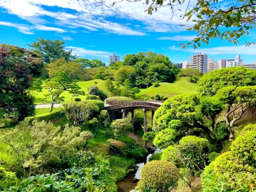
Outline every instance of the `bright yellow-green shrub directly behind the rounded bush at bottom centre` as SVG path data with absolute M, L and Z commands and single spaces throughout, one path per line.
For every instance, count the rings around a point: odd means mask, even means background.
M 177 167 L 182 164 L 180 151 L 175 146 L 169 146 L 163 150 L 161 160 L 162 161 L 170 161 Z

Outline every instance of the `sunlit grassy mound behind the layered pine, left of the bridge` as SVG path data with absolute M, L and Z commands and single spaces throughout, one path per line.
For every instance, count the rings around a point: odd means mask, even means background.
M 95 82 L 97 82 L 97 84 L 95 84 Z M 108 92 L 108 89 L 105 87 L 105 81 L 101 80 L 101 79 L 94 79 L 91 81 L 81 81 L 81 82 L 77 82 L 77 84 L 82 88 L 82 90 L 85 92 L 85 94 L 88 94 L 87 92 L 87 87 L 90 87 L 92 85 L 95 85 L 97 87 L 99 87 L 100 90 L 104 91 L 105 93 L 107 93 L 108 96 L 111 96 L 111 92 Z M 116 82 L 113 81 L 113 85 L 116 85 Z M 121 87 L 123 87 L 122 85 L 120 85 Z M 121 88 L 120 87 L 120 88 Z M 42 104 L 42 99 L 44 99 L 44 94 L 47 94 L 47 90 L 43 89 L 42 92 L 36 92 L 35 93 L 35 103 L 36 104 Z M 64 96 L 64 100 L 65 101 L 71 101 L 71 97 L 72 94 L 68 93 L 68 91 L 64 91 L 60 96 Z M 78 96 L 78 98 L 81 98 L 82 100 L 86 98 L 86 95 L 80 95 Z M 47 99 L 47 101 L 50 101 L 50 99 Z

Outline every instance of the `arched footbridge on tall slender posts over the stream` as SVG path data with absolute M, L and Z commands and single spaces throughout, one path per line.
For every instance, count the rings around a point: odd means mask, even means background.
M 125 118 L 125 110 L 132 111 L 132 127 L 134 127 L 134 109 L 142 109 L 144 111 L 144 132 L 147 132 L 147 111 L 151 110 L 152 122 L 155 114 L 155 110 L 163 104 L 163 101 L 150 100 L 150 101 L 131 101 L 127 103 L 119 103 L 116 105 L 106 104 L 105 108 L 109 113 L 114 111 L 122 111 L 123 119 Z

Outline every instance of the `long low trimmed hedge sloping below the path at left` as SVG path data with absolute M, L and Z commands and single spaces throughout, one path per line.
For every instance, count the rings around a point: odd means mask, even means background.
M 45 113 L 43 115 L 26 117 L 26 120 L 28 120 L 29 123 L 31 124 L 34 120 L 38 120 L 38 121 L 44 120 L 46 122 L 50 122 L 50 121 L 57 121 L 64 117 L 65 117 L 65 113 L 63 111 L 56 111 L 52 113 Z

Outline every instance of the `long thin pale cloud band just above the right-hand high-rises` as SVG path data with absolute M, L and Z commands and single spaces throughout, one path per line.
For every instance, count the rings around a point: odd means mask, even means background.
M 192 48 L 184 48 L 172 46 L 170 47 L 172 50 L 179 50 L 185 52 L 196 53 L 197 50 Z M 239 55 L 256 55 L 256 45 L 251 45 L 249 47 L 245 47 L 244 45 L 239 46 L 226 46 L 226 47 L 213 47 L 213 48 L 201 48 L 200 52 L 209 55 L 218 55 L 218 54 L 239 54 Z

